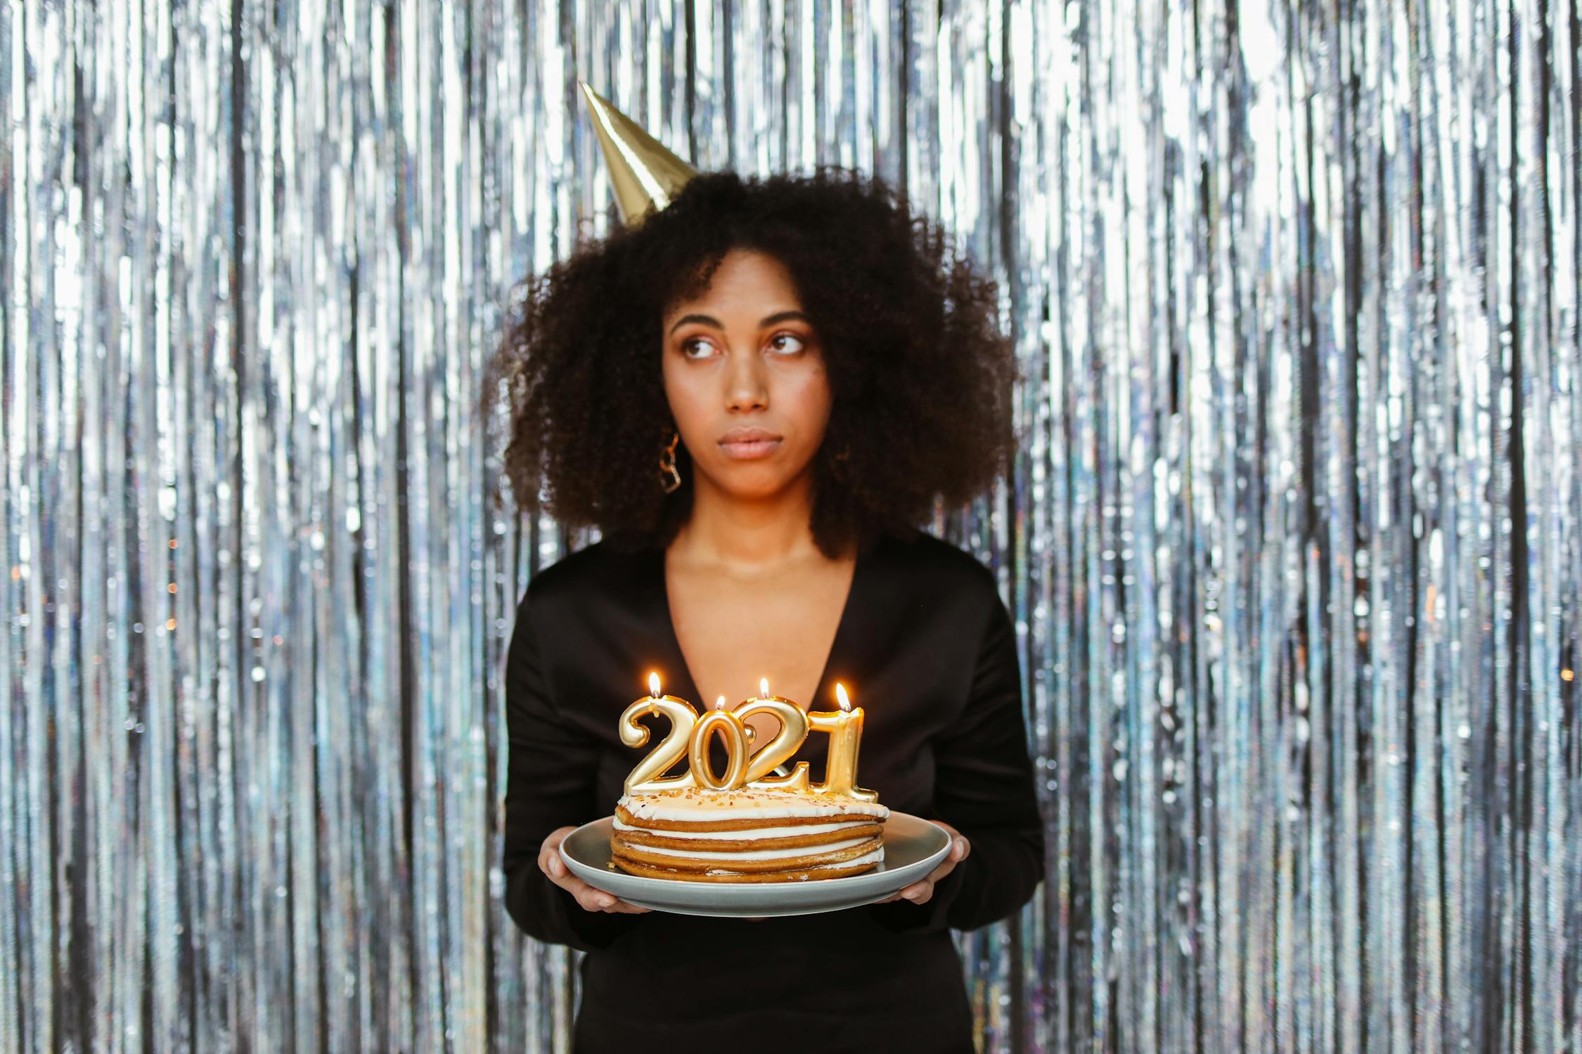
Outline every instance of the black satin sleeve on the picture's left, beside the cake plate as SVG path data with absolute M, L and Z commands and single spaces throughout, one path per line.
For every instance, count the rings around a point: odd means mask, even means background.
M 530 937 L 582 951 L 607 947 L 641 915 L 589 912 L 538 866 L 551 831 L 596 819 L 598 741 L 555 710 L 543 665 L 533 589 L 517 607 L 506 657 L 505 907 Z

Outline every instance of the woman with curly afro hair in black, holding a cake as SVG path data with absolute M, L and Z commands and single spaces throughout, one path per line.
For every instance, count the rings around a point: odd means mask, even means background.
M 1014 442 L 993 284 L 878 180 L 721 172 L 522 308 L 494 363 L 513 490 L 601 534 L 532 577 L 506 662 L 505 902 L 587 951 L 576 1049 L 971 1051 L 949 928 L 1025 904 L 1044 838 L 995 580 L 914 525 Z M 581 882 L 557 849 L 641 760 L 619 717 L 649 670 L 698 706 L 767 676 L 827 710 L 842 681 L 861 784 L 949 855 L 883 902 L 764 920 Z M 818 779 L 823 751 L 808 736 L 788 768 Z

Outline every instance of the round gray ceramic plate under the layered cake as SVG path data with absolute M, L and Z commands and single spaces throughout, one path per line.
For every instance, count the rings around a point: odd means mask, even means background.
M 677 882 L 612 869 L 609 833 L 614 817 L 584 823 L 560 842 L 560 858 L 589 885 L 628 904 L 679 915 L 813 915 L 883 901 L 925 877 L 951 852 L 951 836 L 906 812 L 884 822 L 884 863 L 873 871 L 810 882 Z

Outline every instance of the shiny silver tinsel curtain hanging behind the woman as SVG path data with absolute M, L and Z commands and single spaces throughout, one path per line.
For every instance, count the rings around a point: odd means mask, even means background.
M 589 539 L 495 504 L 471 403 L 612 221 L 585 77 L 1001 281 L 1022 454 L 935 529 L 1017 618 L 1050 855 L 957 935 L 984 1051 L 1582 1051 L 1579 19 L 0 6 L 0 1049 L 566 1049 L 500 667 Z

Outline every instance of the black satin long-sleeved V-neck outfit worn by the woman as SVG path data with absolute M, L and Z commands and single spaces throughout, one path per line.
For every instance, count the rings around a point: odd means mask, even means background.
M 949 929 L 1005 918 L 1044 877 L 1016 632 L 989 569 L 925 533 L 859 553 L 818 691 L 797 700 L 829 710 L 843 683 L 864 711 L 857 784 L 970 839 L 925 904 L 761 921 L 582 910 L 539 871 L 538 849 L 614 812 L 650 749 L 625 746 L 617 724 L 649 670 L 707 706 L 661 548 L 595 542 L 533 575 L 506 661 L 505 905 L 528 935 L 587 951 L 574 1049 L 973 1051 Z M 810 735 L 786 768 L 807 760 L 823 777 L 826 740 Z M 725 771 L 718 738 L 712 749 Z

